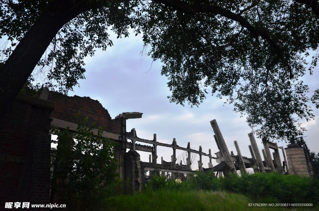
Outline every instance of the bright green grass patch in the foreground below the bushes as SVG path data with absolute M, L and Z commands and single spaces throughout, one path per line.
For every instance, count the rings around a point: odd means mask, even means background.
M 319 207 L 249 207 L 249 203 L 262 202 L 251 200 L 238 193 L 204 190 L 146 190 L 133 195 L 114 196 L 107 200 L 106 211 L 244 211 L 244 210 L 319 210 Z M 275 203 L 275 201 L 272 201 Z

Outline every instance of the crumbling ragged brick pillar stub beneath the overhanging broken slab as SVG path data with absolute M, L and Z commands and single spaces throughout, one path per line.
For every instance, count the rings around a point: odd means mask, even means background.
M 137 151 L 129 151 L 125 154 L 124 166 L 125 193 L 140 192 L 142 190 L 142 172 L 140 155 Z

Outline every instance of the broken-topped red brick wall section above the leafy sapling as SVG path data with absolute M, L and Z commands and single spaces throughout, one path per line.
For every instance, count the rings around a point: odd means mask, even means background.
M 89 123 L 96 123 L 96 128 L 103 127 L 104 131 L 120 134 L 121 120 L 112 120 L 108 110 L 99 101 L 89 97 L 66 96 L 55 91 L 49 91 L 48 101 L 55 103 L 51 117 L 78 123 L 76 116 L 88 117 Z

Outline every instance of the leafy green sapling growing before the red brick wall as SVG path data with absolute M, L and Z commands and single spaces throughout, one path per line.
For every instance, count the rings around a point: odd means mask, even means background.
M 118 164 L 114 156 L 114 141 L 102 137 L 99 127 L 93 133 L 95 123 L 78 118 L 78 133 L 52 129 L 58 135 L 54 162 L 52 193 L 59 203 L 67 204 L 69 210 L 99 210 L 104 206 L 105 197 L 114 191 L 115 173 Z M 51 193 L 51 194 L 52 194 Z

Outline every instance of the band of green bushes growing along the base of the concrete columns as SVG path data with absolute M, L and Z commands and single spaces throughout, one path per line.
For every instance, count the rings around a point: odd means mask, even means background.
M 147 185 L 151 190 L 207 190 L 227 191 L 243 194 L 254 201 L 271 200 L 282 203 L 317 203 L 319 201 L 319 180 L 316 178 L 283 175 L 278 173 L 244 174 L 241 177 L 217 178 L 213 172 L 198 174 L 185 182 L 152 177 Z

